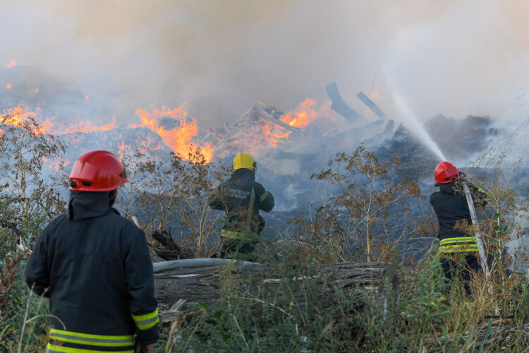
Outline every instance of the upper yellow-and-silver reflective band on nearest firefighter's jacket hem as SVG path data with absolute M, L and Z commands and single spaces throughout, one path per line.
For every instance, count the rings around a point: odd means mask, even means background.
M 75 333 L 52 328 L 49 337 L 60 342 L 78 343 L 80 345 L 102 346 L 102 347 L 128 347 L 134 345 L 133 335 L 111 336 L 90 335 L 87 333 Z

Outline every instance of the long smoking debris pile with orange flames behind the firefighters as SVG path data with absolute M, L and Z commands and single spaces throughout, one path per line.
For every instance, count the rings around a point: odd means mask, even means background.
M 94 149 L 110 150 L 120 157 L 139 151 L 162 161 L 171 151 L 184 160 L 193 158 L 190 151 L 199 151 L 205 163 L 225 166 L 245 151 L 257 159 L 259 179 L 272 186 L 277 209 L 292 210 L 317 197 L 318 186 L 310 181 L 313 173 L 323 169 L 336 152 L 351 151 L 360 143 L 381 156 L 394 152 L 417 169 L 436 160 L 403 125 L 395 129 L 395 121 L 373 101 L 375 96 L 358 92 L 358 99 L 369 109 L 360 114 L 343 100 L 336 83 L 327 85 L 329 102 L 318 104 L 308 98 L 288 112 L 256 102 L 219 128 L 200 126 L 188 116 L 186 103 L 136 109 L 138 124 L 123 126 L 115 117 L 94 123 L 92 118 L 104 116 L 106 107 L 98 108 L 97 98 L 72 90 L 56 78 L 16 63 L 0 70 L 0 84 L 6 86 L 0 95 L 4 107 L 0 116 L 10 116 L 2 124 L 18 126 L 35 116 L 41 125 L 35 133 L 59 135 L 66 144 L 66 170 L 75 158 Z M 485 148 L 488 137 L 497 134 L 491 124 L 489 118 L 457 120 L 439 114 L 425 127 L 447 157 L 468 161 Z M 50 175 L 54 168 L 50 162 Z

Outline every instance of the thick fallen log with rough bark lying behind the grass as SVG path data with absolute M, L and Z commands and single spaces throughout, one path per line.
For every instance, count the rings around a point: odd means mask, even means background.
M 248 262 L 232 262 L 226 259 L 188 259 L 154 264 L 154 295 L 159 304 L 171 307 L 178 300 L 188 303 L 211 303 L 221 297 L 223 282 L 221 277 L 233 275 L 236 279 L 253 278 L 252 286 L 261 297 L 274 297 L 285 274 L 279 274 L 277 268 Z M 172 263 L 172 266 L 171 264 Z M 193 264 L 200 263 L 193 267 Z M 322 302 L 332 304 L 333 291 L 343 294 L 360 291 L 368 294 L 382 294 L 384 282 L 391 283 L 396 289 L 397 282 L 387 263 L 326 263 L 309 264 L 299 268 L 299 275 L 290 280 L 306 281 L 319 287 Z M 303 299 L 303 293 L 294 293 L 294 297 Z

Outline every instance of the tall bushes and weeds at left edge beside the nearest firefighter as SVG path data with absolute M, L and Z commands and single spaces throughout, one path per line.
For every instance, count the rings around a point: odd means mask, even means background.
M 0 116 L 0 347 L 7 352 L 43 349 L 47 300 L 23 282 L 23 268 L 42 229 L 63 213 L 61 154 L 64 145 L 44 135 L 31 116 Z M 59 177 L 42 180 L 44 162 L 54 159 Z

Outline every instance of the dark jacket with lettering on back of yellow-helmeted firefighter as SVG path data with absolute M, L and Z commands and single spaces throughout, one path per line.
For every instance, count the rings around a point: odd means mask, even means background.
M 265 227 L 259 210 L 270 212 L 274 208 L 274 196 L 255 181 L 250 169 L 241 168 L 217 188 L 209 206 L 226 212 L 222 237 L 252 241 L 258 240 Z

